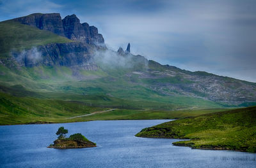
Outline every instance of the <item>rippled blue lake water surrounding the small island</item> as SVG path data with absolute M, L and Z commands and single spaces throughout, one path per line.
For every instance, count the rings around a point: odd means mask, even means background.
M 0 127 L 0 167 L 256 167 L 256 154 L 191 150 L 177 139 L 134 137 L 168 120 L 120 120 Z M 81 133 L 96 148 L 46 148 L 59 127 Z

